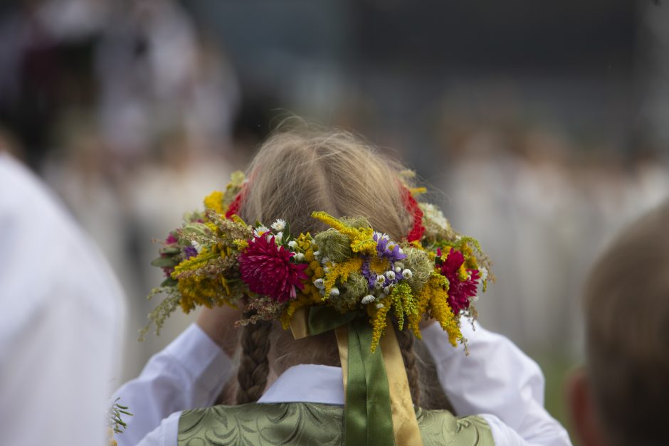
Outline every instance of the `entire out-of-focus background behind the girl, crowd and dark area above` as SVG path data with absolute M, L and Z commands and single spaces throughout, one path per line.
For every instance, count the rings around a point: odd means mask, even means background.
M 479 238 L 497 275 L 480 321 L 539 361 L 565 420 L 586 272 L 669 196 L 669 5 L 3 1 L 0 146 L 60 194 L 125 287 L 119 385 L 194 319 L 137 343 L 162 280 L 152 239 L 289 114 L 400 157 Z

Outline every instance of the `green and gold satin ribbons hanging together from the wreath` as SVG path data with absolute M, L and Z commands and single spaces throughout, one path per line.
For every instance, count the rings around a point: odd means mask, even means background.
M 295 339 L 334 329 L 344 379 L 344 445 L 421 445 L 409 381 L 392 324 L 370 351 L 372 327 L 360 314 L 301 308 L 290 324 Z

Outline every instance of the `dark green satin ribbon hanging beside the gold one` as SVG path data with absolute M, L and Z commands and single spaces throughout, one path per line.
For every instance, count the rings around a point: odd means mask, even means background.
M 372 327 L 359 314 L 341 314 L 330 307 L 311 307 L 309 334 L 348 324 L 347 388 L 344 403 L 344 445 L 394 445 L 388 376 L 381 348 L 374 353 Z

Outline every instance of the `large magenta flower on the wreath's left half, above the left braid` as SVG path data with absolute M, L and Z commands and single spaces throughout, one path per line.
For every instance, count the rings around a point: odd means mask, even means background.
M 248 241 L 248 248 L 239 256 L 241 280 L 248 289 L 271 297 L 278 302 L 295 299 L 295 287 L 304 288 L 301 280 L 309 277 L 304 270 L 306 263 L 293 263 L 290 257 L 295 253 L 277 246 L 274 236 L 259 235 Z

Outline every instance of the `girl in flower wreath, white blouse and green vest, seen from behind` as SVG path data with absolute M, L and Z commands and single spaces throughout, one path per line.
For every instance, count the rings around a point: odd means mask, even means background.
M 478 243 L 420 192 L 350 134 L 270 137 L 154 263 L 158 328 L 209 308 L 117 392 L 119 444 L 570 445 L 537 365 L 473 322 Z

